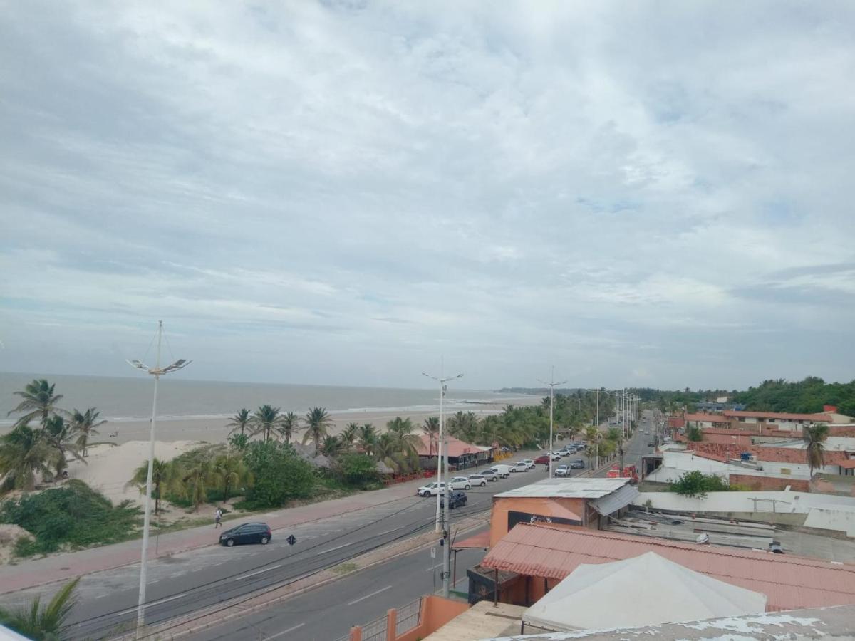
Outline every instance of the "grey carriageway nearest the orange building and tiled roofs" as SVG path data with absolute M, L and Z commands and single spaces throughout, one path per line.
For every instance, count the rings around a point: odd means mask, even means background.
M 640 429 L 628 441 L 625 464 L 638 465 L 641 456 L 652 450 L 647 447 L 647 436 L 644 434 L 648 429 L 646 425 L 646 420 L 642 420 Z M 598 473 L 598 476 L 604 475 L 605 470 Z M 543 477 L 545 474 L 540 472 L 534 475 L 521 474 L 511 479 L 517 481 L 514 485 L 524 485 Z M 510 487 L 508 481 L 504 483 L 506 485 L 498 489 Z M 489 496 L 473 498 L 472 492 L 469 495 L 473 504 L 490 502 Z M 437 552 L 439 556 L 440 550 Z M 468 589 L 466 568 L 480 562 L 484 554 L 484 550 L 463 550 L 458 553 L 457 590 Z M 344 636 L 353 625 L 364 626 L 384 616 L 389 608 L 400 608 L 424 594 L 439 591 L 440 567 L 439 558 L 431 559 L 429 550 L 419 550 L 188 638 L 192 641 L 236 638 L 329 641 Z

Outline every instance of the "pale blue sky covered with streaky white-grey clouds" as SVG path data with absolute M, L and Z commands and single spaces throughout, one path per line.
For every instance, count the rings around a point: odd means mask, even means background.
M 0 5 L 0 371 L 855 378 L 852 3 Z

